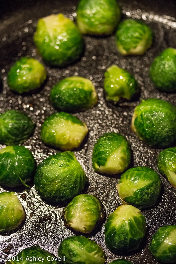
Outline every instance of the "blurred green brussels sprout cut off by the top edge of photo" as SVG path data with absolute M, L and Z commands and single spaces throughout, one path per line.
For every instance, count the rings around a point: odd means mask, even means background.
M 77 25 L 83 34 L 111 35 L 120 21 L 116 0 L 80 0 Z

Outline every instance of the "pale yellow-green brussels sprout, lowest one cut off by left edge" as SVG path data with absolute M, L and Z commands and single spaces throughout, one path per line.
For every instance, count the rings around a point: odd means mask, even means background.
M 25 220 L 26 214 L 15 192 L 0 194 L 0 233 L 9 234 Z

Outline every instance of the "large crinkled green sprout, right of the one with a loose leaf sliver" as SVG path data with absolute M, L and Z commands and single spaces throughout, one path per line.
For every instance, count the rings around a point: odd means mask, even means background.
M 71 151 L 51 155 L 36 169 L 34 184 L 47 201 L 64 202 L 78 195 L 87 183 L 85 173 Z

